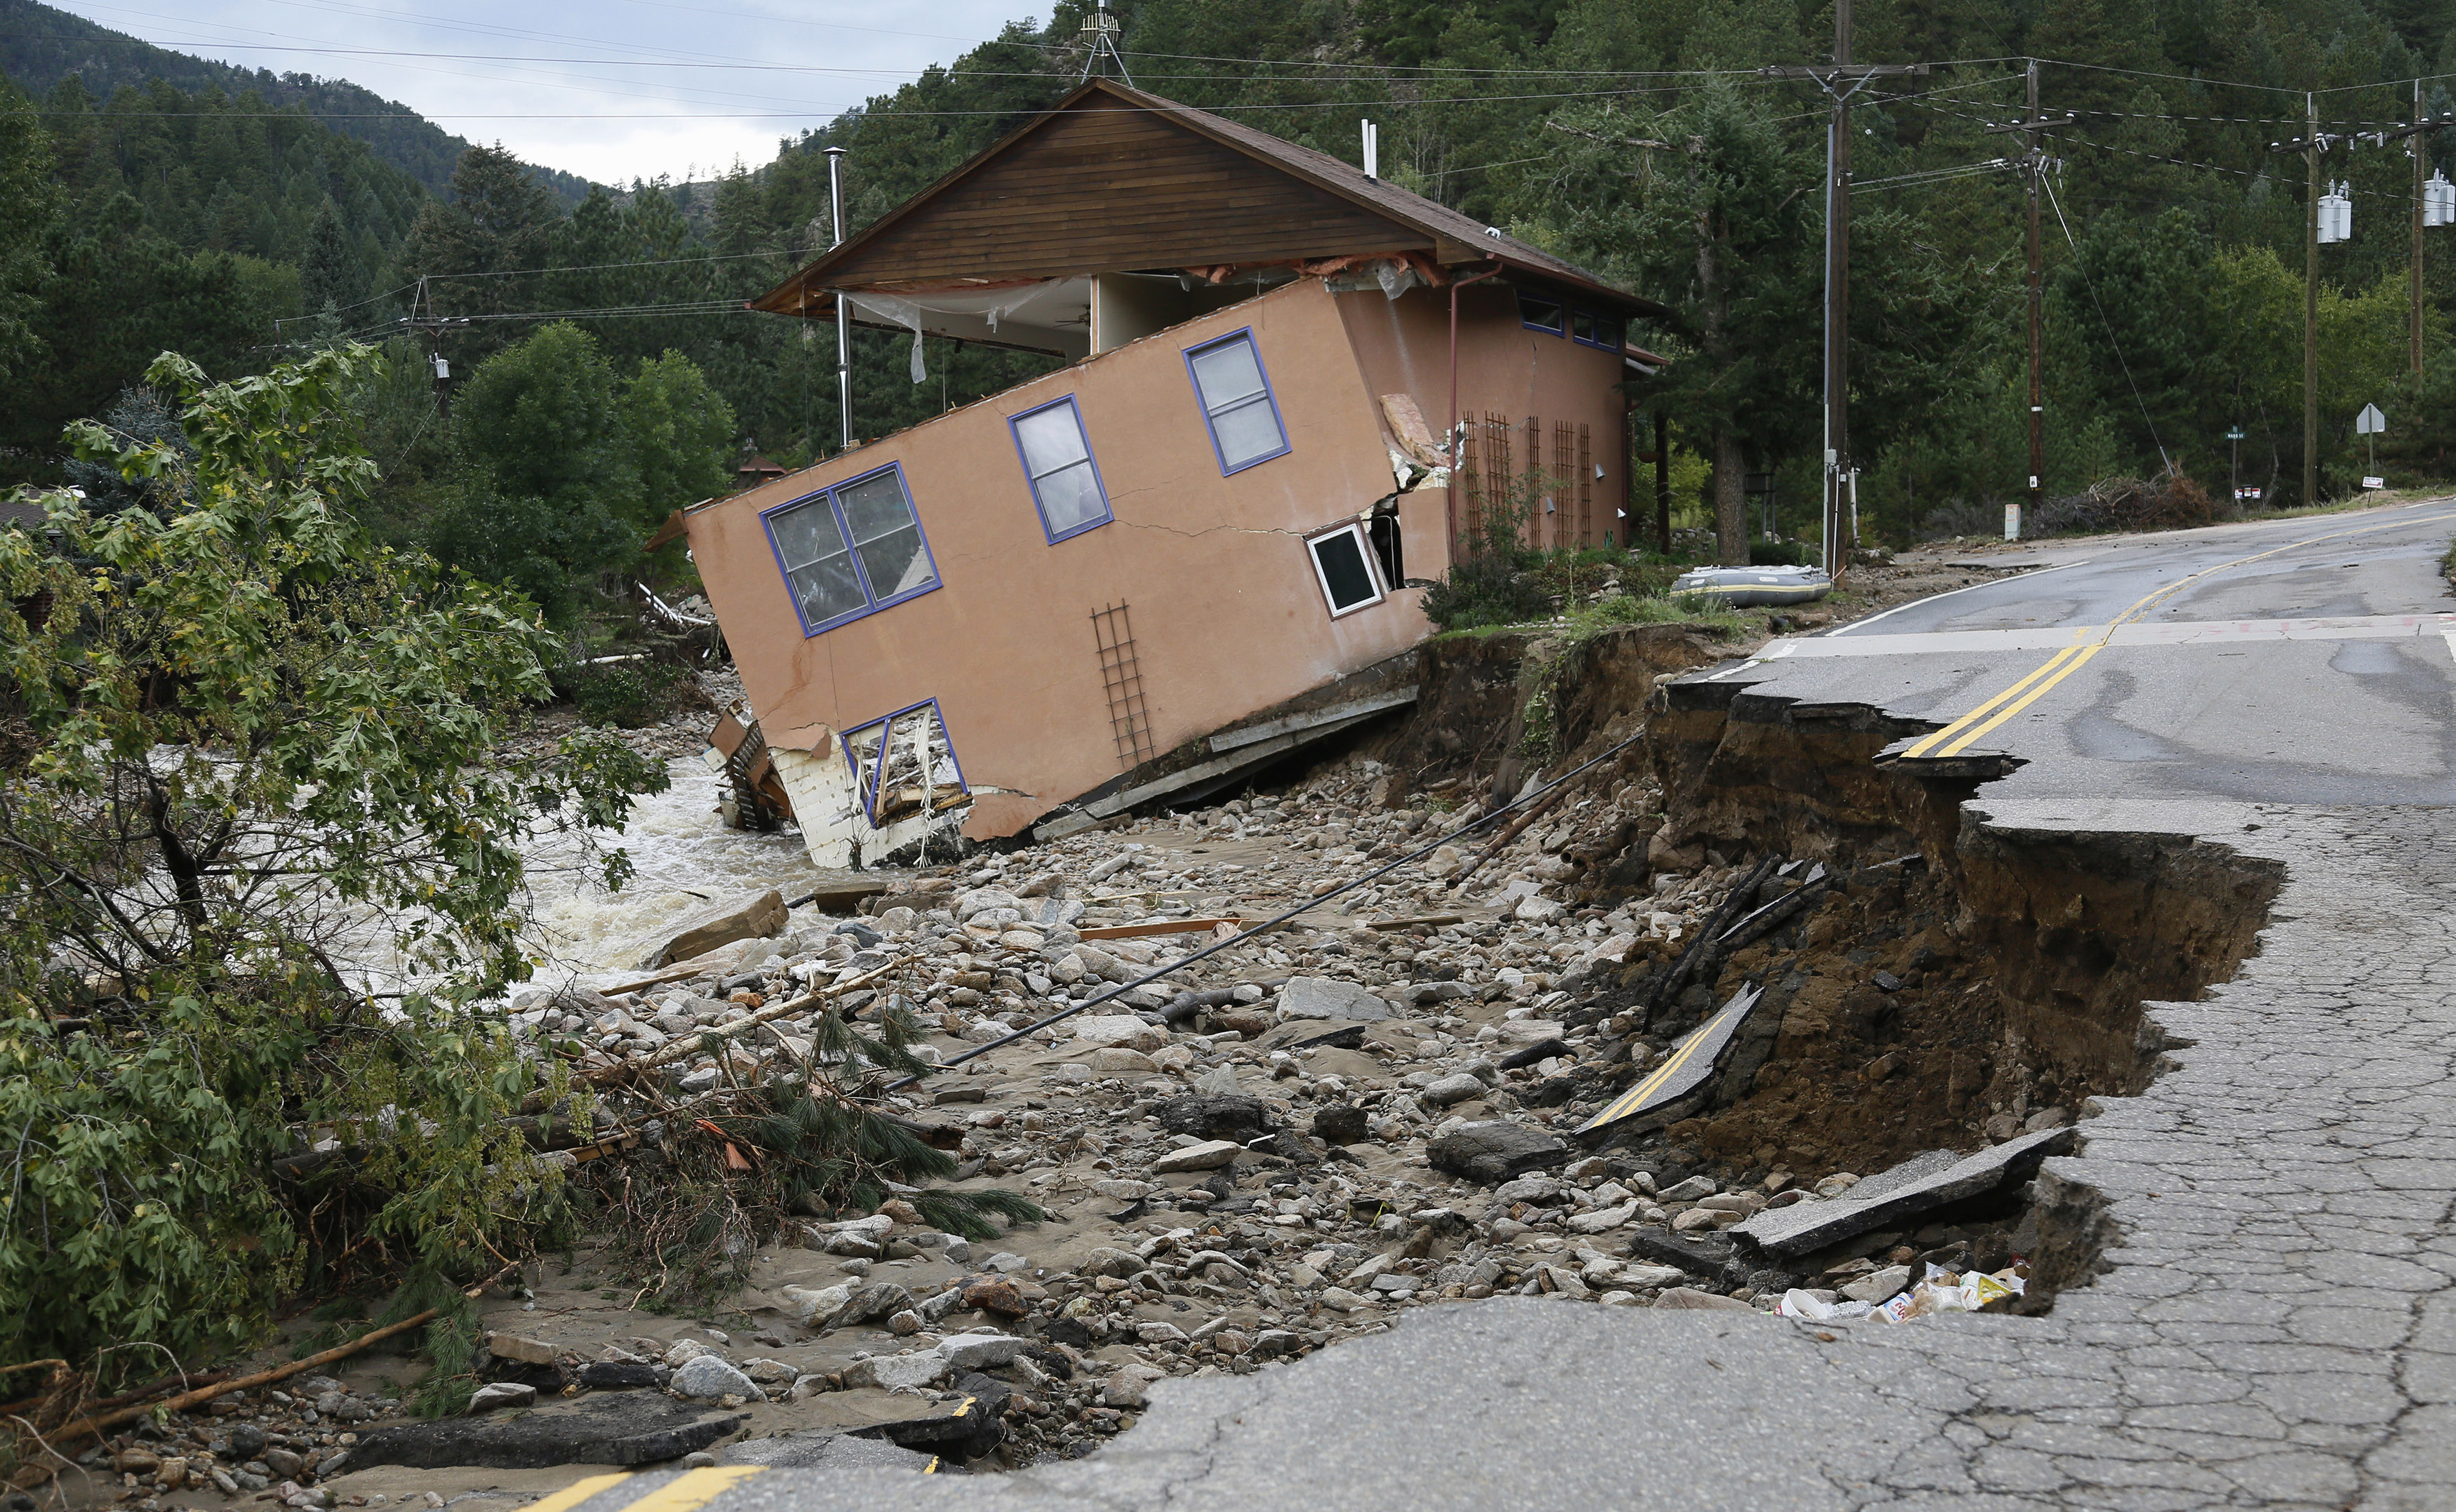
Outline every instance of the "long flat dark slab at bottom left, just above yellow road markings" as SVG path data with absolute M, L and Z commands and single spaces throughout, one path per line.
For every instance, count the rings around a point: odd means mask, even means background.
M 349 1468 L 481 1465 L 538 1470 L 545 1465 L 648 1465 L 698 1453 L 742 1426 L 739 1414 L 710 1416 L 668 1397 L 621 1394 L 553 1402 L 513 1419 L 445 1419 L 388 1424 L 359 1436 Z M 236 1436 L 233 1436 L 236 1453 Z

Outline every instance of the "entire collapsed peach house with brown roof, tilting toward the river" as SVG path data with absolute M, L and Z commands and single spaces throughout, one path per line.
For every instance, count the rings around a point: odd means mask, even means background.
M 1623 538 L 1658 309 L 1098 79 L 754 304 L 911 329 L 916 376 L 923 331 L 1068 358 L 685 520 L 823 864 L 1078 827 L 1390 707 L 1334 695 L 1488 515 Z

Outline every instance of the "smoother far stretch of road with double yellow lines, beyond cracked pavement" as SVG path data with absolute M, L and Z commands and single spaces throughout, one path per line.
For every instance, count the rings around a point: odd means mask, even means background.
M 2056 542 L 1714 675 L 1948 724 L 1908 754 L 2021 756 L 1989 800 L 2446 803 L 2451 538 L 2456 501 Z

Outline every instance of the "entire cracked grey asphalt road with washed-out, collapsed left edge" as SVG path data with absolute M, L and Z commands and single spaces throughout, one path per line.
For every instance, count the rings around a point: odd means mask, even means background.
M 2201 835 L 2287 889 L 2058 1181 L 2107 1269 L 2043 1318 L 1803 1325 L 1496 1298 L 1169 1379 L 1098 1456 L 923 1475 L 842 1443 L 530 1512 L 2456 1507 L 2456 501 L 2058 542 L 1712 675 L 2009 751 L 2016 827 Z M 779 1453 L 781 1451 L 781 1453 Z

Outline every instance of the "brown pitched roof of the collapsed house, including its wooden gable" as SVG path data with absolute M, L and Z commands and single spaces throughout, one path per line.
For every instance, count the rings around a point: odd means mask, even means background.
M 1179 245 L 1164 245 L 1172 241 L 1176 226 L 1181 226 L 1181 218 L 1164 218 L 1152 226 L 1152 241 L 1147 245 L 1137 241 L 1144 236 L 1140 226 L 1152 223 L 1152 211 L 1144 204 L 1147 196 L 1137 194 L 1132 187 L 1100 199 L 1100 214 L 1068 214 L 1051 223 L 1046 209 L 1029 194 L 1002 194 L 995 177 L 975 182 L 982 179 L 982 174 L 1000 160 L 1017 164 L 1009 172 L 1024 172 L 1022 164 L 1029 162 L 1029 172 L 1039 174 L 1044 184 L 1071 187 L 1073 179 L 1063 174 L 1108 174 L 1110 179 L 1130 177 L 1127 169 L 1120 169 L 1115 155 L 1100 160 L 1095 155 L 1076 152 L 1073 157 L 1083 157 L 1083 167 L 1078 169 L 1068 167 L 1068 162 L 1073 162 L 1068 152 L 1041 152 L 1039 162 L 1032 162 L 1034 137 L 1046 135 L 1056 123 L 1068 123 L 1090 133 L 1100 130 L 1088 125 L 1093 113 L 1108 115 L 1120 108 L 1149 110 L 1152 115 L 1167 118 L 1184 133 L 1194 133 L 1213 145 L 1201 147 L 1201 152 L 1208 152 L 1218 162 L 1235 164 L 1243 160 L 1284 174 L 1284 179 L 1280 179 L 1280 191 L 1267 191 L 1255 201 L 1262 206 L 1260 214 L 1275 218 L 1265 221 L 1260 228 L 1253 218 L 1248 218 L 1235 228 L 1233 238 L 1218 245 L 1218 255 L 1196 255 L 1199 248 L 1186 243 L 1184 236 L 1174 238 Z M 1172 140 L 1186 145 L 1181 135 Z M 1226 152 L 1218 152 L 1218 147 Z M 1221 169 L 1213 167 L 1211 172 Z M 1248 179 L 1238 179 L 1238 184 L 1243 187 Z M 1277 199 L 1272 199 L 1272 194 L 1277 194 Z M 938 218 L 960 223 L 933 231 L 933 206 L 941 206 Z M 1098 228 L 1086 223 L 1103 218 L 1113 223 Z M 1120 250 L 1120 226 L 1122 243 L 1135 245 L 1135 253 L 1140 255 Z M 1095 231 L 1105 236 L 1095 236 Z M 1284 231 L 1284 238 L 1280 231 Z M 936 255 L 921 255 L 916 243 L 923 238 L 936 238 Z M 1284 245 L 1277 245 L 1275 238 L 1284 241 Z M 1081 245 L 1068 245 L 1071 241 L 1081 241 Z M 1078 277 L 1083 272 L 1125 272 L 1132 268 L 1169 265 L 1174 260 L 1189 265 L 1203 260 L 1262 263 L 1272 258 L 1299 260 L 1397 250 L 1417 253 L 1447 268 L 1498 260 L 1503 268 L 1528 275 L 1530 280 L 1587 295 L 1594 304 L 1609 307 L 1616 314 L 1663 312 L 1660 304 L 1626 290 L 1616 290 L 1584 268 L 1555 258 L 1542 248 L 1496 233 L 1481 221 L 1410 189 L 1400 189 L 1388 179 L 1368 179 L 1356 164 L 1341 162 L 1326 152 L 1314 152 L 1312 147 L 1299 147 L 1208 110 L 1179 106 L 1176 101 L 1164 101 L 1154 93 L 1115 83 L 1110 79 L 1086 81 L 1051 110 L 1036 115 L 995 147 L 987 147 L 921 194 L 911 196 L 867 226 L 860 236 L 845 241 L 845 245 L 833 248 L 828 255 L 818 258 L 776 290 L 754 299 L 752 307 L 779 314 L 833 312 L 835 302 L 823 295 L 823 290 L 840 285 L 894 287 L 899 280 L 928 282 L 933 277 L 946 277 L 948 282 L 1056 275 Z M 958 263 L 965 265 L 965 277 L 948 277 L 948 270 Z M 906 268 L 911 272 L 906 272 Z

